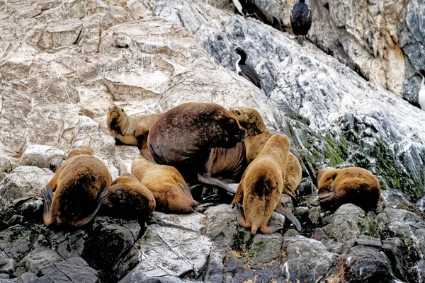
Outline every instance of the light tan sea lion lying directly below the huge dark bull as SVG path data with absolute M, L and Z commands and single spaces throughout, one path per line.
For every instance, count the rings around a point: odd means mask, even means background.
M 131 173 L 154 195 L 157 211 L 169 213 L 194 212 L 198 205 L 183 177 L 172 166 L 152 163 L 145 157 L 136 157 Z

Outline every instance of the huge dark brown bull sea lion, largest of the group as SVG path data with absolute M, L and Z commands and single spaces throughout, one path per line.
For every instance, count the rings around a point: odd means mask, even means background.
M 183 103 L 152 125 L 147 143 L 158 164 L 174 166 L 188 183 L 203 183 L 235 191 L 211 177 L 213 148 L 232 148 L 246 130 L 229 110 L 215 103 Z

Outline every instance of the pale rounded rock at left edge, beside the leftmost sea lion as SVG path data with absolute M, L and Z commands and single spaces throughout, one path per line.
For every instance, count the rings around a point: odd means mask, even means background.
M 4 205 L 21 197 L 30 197 L 40 192 L 49 183 L 54 173 L 47 168 L 18 166 L 0 182 L 0 202 Z

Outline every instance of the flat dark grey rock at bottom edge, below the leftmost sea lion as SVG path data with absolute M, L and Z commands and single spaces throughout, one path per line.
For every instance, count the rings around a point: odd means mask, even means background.
M 100 283 L 98 272 L 89 267 L 82 258 L 69 258 L 51 263 L 38 271 L 35 282 Z

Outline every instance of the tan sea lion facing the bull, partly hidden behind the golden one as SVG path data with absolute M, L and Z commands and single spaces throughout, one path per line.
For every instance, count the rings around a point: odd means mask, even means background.
M 261 152 L 273 134 L 264 124 L 263 117 L 254 109 L 244 106 L 230 108 L 239 121 L 239 124 L 246 129 L 246 138 L 244 143 L 246 146 L 246 161 L 251 163 Z M 285 185 L 283 193 L 295 197 L 294 192 L 300 185 L 302 178 L 302 168 L 298 158 L 289 152 L 285 171 Z

